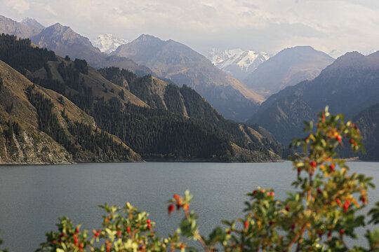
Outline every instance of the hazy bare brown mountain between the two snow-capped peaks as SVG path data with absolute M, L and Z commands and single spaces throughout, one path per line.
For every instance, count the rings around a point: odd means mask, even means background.
M 129 57 L 152 69 L 160 78 L 192 87 L 226 118 L 246 120 L 264 100 L 203 55 L 173 40 L 162 41 L 143 34 L 121 45 L 112 55 Z

